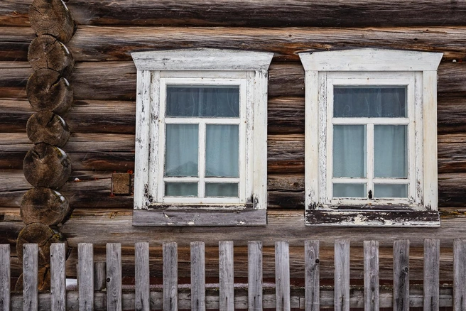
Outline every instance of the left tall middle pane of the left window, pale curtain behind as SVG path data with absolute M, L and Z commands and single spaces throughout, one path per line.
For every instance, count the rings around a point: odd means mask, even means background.
M 197 124 L 167 124 L 165 175 L 197 176 Z

